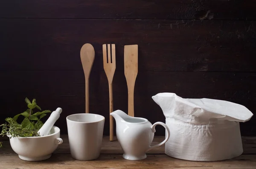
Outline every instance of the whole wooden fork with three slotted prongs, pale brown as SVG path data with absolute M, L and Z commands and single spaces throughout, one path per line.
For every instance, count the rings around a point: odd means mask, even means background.
M 113 112 L 113 92 L 112 92 L 112 81 L 113 76 L 116 70 L 116 46 L 115 44 L 108 44 L 108 52 L 107 52 L 107 45 L 102 45 L 103 49 L 103 65 L 104 70 L 108 78 L 108 89 L 109 89 L 109 113 Z M 113 117 L 109 115 L 109 140 L 113 141 Z

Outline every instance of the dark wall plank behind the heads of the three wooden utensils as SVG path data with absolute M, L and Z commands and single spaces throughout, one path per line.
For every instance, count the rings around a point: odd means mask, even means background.
M 96 52 L 92 71 L 103 71 L 102 44 L 115 43 L 116 71 L 123 71 L 124 45 L 138 44 L 139 71 L 256 72 L 255 21 L 0 22 L 0 55 L 4 56 L 0 70 L 82 70 L 79 51 L 84 43 L 91 43 Z

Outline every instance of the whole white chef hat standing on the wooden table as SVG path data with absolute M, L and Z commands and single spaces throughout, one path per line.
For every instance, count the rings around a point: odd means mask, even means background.
M 171 132 L 165 144 L 167 155 L 215 161 L 242 154 L 239 122 L 253 116 L 246 107 L 224 100 L 185 99 L 175 93 L 158 93 L 152 98 L 163 110 Z

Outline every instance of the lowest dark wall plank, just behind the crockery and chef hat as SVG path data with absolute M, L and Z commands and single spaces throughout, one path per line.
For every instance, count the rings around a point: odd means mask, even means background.
M 32 77 L 32 78 L 29 78 Z M 66 116 L 84 112 L 83 71 L 0 71 L 0 93 L 4 118 L 13 117 L 26 110 L 25 97 L 37 99 L 42 109 L 63 112 L 56 121 L 61 134 L 67 133 Z M 26 83 L 25 83 L 26 82 Z M 25 83 L 26 85 L 20 85 Z M 108 80 L 105 72 L 91 72 L 90 111 L 105 116 L 105 126 L 109 126 Z M 123 72 L 115 72 L 113 79 L 114 110 L 128 111 L 128 94 Z M 255 112 L 256 73 L 239 72 L 139 72 L 134 89 L 134 112 L 136 117 L 145 117 L 151 123 L 165 122 L 160 107 L 151 99 L 159 92 L 175 92 L 184 98 L 212 98 L 227 100 L 246 106 Z M 13 106 L 15 105 L 15 106 Z M 48 115 L 47 115 L 48 117 Z M 47 118 L 45 117 L 45 118 Z M 255 136 L 256 117 L 240 123 L 243 136 Z M 156 135 L 164 135 L 162 127 L 156 127 Z M 108 127 L 104 135 L 109 135 Z

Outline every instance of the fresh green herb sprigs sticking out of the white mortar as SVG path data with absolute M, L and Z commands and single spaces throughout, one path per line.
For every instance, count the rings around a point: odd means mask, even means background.
M 28 98 L 25 98 L 25 102 L 29 109 L 25 112 L 15 115 L 14 117 L 6 118 L 5 124 L 0 125 L 2 127 L 2 132 L 0 135 L 8 135 L 12 137 L 38 137 L 38 130 L 44 125 L 41 118 L 50 113 L 50 110 L 41 111 L 41 108 L 37 105 L 36 100 L 33 99 L 32 103 Z M 41 112 L 33 113 L 33 109 L 39 109 Z M 17 122 L 18 117 L 22 115 L 24 117 L 23 121 L 19 124 Z M 1 147 L 0 142 L 0 147 Z

